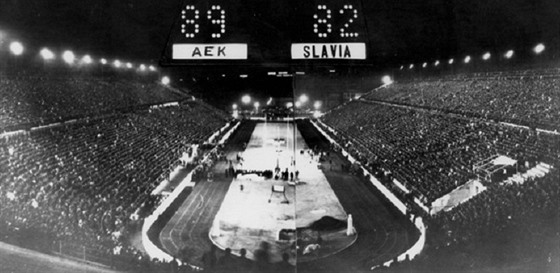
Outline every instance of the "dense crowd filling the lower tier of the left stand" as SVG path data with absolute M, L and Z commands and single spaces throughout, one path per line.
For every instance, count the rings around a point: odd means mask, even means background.
M 0 240 L 135 257 L 125 238 L 159 201 L 150 194 L 161 177 L 225 123 L 185 102 L 0 139 Z

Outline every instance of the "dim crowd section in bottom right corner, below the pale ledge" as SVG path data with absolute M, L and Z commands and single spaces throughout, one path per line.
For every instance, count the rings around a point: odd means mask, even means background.
M 556 168 L 524 184 L 493 185 L 425 218 L 422 254 L 381 272 L 557 272 L 559 177 Z

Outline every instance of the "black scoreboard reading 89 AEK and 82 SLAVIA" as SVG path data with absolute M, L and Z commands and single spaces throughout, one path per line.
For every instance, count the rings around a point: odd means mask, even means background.
M 365 60 L 360 0 L 184 0 L 164 64 Z

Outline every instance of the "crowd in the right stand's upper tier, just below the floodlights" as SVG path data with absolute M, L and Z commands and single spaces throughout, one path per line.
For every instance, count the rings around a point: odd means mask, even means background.
M 396 82 L 364 96 L 541 129 L 560 129 L 560 69 Z

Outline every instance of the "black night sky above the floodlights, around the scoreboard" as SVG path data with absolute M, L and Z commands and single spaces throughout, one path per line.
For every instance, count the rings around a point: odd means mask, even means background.
M 285 59 L 276 55 L 282 50 L 289 52 L 287 48 L 278 48 L 285 47 L 282 37 L 289 39 L 291 31 L 294 31 L 289 28 L 297 27 L 290 20 L 293 5 L 298 1 L 235 2 L 241 7 L 247 5 L 252 7 L 252 11 L 257 10 L 252 12 L 253 18 L 246 19 L 262 24 L 247 26 L 246 32 L 254 34 L 250 37 L 249 48 L 251 52 L 256 52 L 253 55 L 257 56 L 256 63 L 260 66 L 271 65 L 271 59 L 275 62 L 280 60 L 281 65 L 289 65 L 282 64 Z M 555 52 L 553 54 L 558 55 L 559 52 L 559 0 L 352 1 L 359 2 L 365 18 L 364 31 L 368 33 L 368 59 L 361 64 L 370 66 L 372 70 L 381 71 L 406 63 L 482 54 L 485 51 L 528 49 L 539 42 L 547 45 Z M 27 47 L 48 46 L 59 51 L 72 49 L 77 54 L 157 64 L 174 21 L 179 17 L 182 2 L 0 0 L 0 31 L 19 39 Z M 255 26 L 262 28 L 252 29 Z M 215 72 L 212 67 L 205 69 L 198 74 Z M 182 73 L 180 68 L 174 70 Z M 186 74 L 193 70 L 196 68 L 184 71 Z

